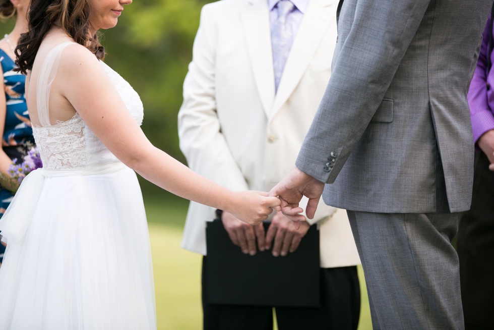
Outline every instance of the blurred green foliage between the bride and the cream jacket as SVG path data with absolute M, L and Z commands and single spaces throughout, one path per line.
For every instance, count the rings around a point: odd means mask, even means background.
M 139 0 L 102 35 L 105 62 L 136 89 L 144 103 L 143 130 L 158 148 L 185 162 L 178 148 L 182 84 L 204 0 Z

